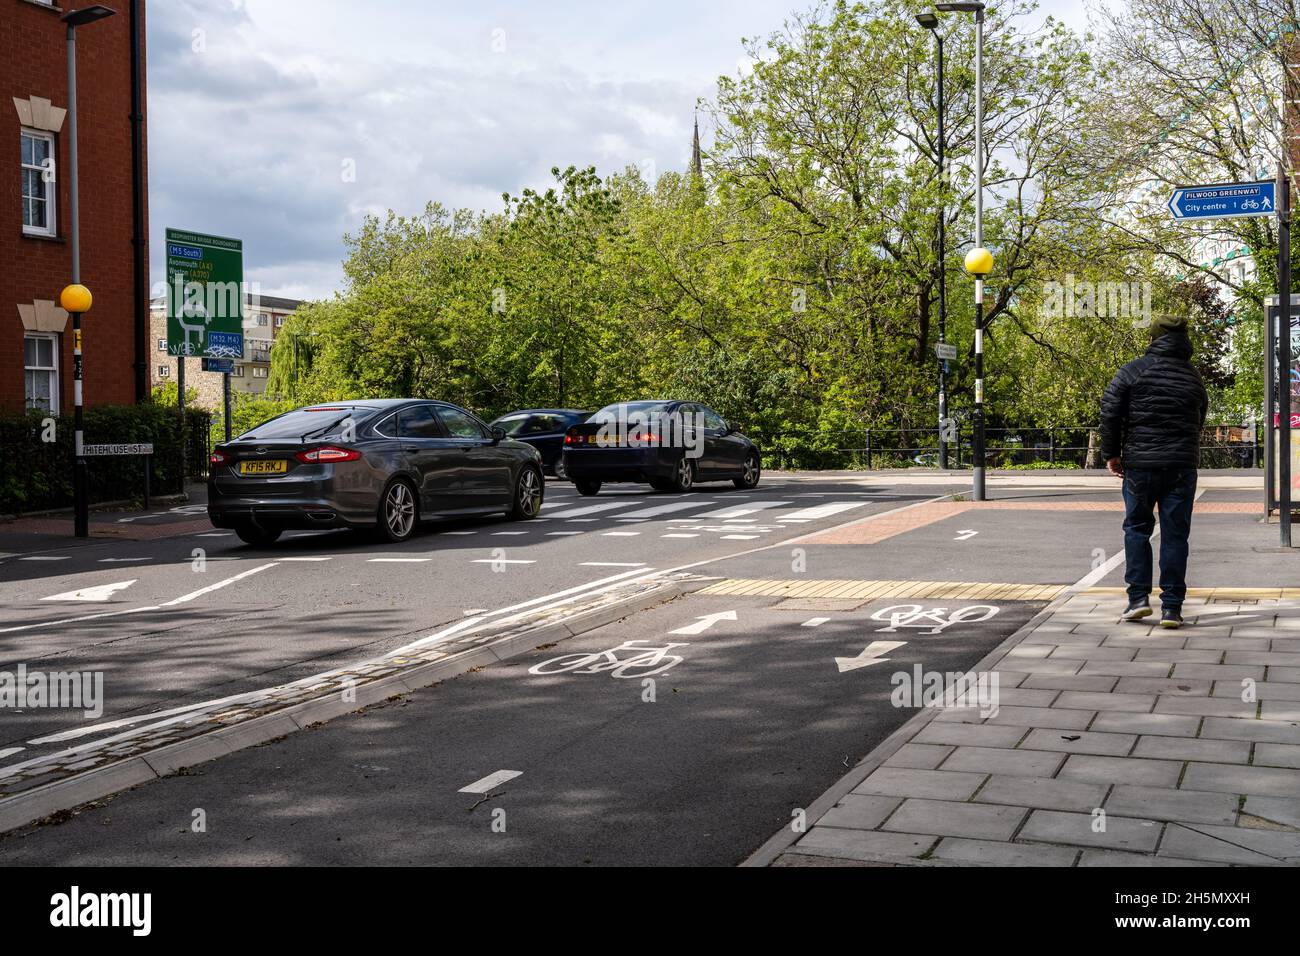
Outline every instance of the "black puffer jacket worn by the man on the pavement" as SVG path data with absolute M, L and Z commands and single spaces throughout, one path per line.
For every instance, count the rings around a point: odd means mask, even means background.
M 1186 332 L 1166 332 L 1110 380 L 1101 455 L 1134 468 L 1195 468 L 1209 399 Z

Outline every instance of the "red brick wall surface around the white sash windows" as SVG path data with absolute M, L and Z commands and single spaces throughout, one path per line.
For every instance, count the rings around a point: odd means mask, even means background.
M 113 8 L 117 16 L 77 31 L 81 268 L 82 282 L 95 297 L 82 321 L 86 405 L 135 401 L 130 16 L 127 0 Z M 23 325 L 17 306 L 57 302 L 70 281 L 69 124 L 65 120 L 55 134 L 58 234 L 32 238 L 22 232 L 22 122 L 13 105 L 14 98 L 36 96 L 68 107 L 65 26 L 58 18 L 64 9 L 34 0 L 0 0 L 0 410 L 21 410 L 25 399 Z M 142 17 L 143 9 L 142 1 Z M 61 410 L 70 411 L 70 323 L 61 337 L 58 377 Z

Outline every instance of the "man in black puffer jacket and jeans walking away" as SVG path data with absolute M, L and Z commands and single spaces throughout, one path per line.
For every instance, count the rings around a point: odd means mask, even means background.
M 1150 324 L 1147 354 L 1121 368 L 1101 398 L 1101 454 L 1123 479 L 1124 620 L 1150 614 L 1150 535 L 1160 507 L 1161 627 L 1182 627 L 1187 597 L 1187 535 L 1192 528 L 1200 436 L 1209 399 L 1190 362 L 1187 320 Z

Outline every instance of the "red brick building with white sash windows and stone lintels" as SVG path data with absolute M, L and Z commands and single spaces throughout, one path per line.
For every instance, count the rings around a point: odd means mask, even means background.
M 72 329 L 57 304 L 72 272 L 61 17 L 90 5 L 0 0 L 0 412 L 73 407 Z M 81 277 L 95 297 L 82 320 L 87 406 L 148 394 L 144 0 L 107 5 L 116 16 L 77 29 Z

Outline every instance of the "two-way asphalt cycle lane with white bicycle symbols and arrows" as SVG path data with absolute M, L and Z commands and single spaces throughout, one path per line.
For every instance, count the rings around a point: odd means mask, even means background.
M 775 604 L 676 601 L 0 838 L 0 857 L 734 865 L 915 713 L 894 675 L 966 670 L 1040 606 L 936 635 L 885 632 L 896 600 L 816 626 Z M 736 619 L 670 633 L 720 611 Z M 879 663 L 841 671 L 872 645 Z

